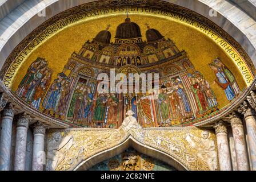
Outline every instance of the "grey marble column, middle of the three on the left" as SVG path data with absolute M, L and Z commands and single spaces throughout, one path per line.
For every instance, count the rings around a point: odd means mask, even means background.
M 26 162 L 27 129 L 29 128 L 29 115 L 19 115 L 17 122 L 14 171 L 24 171 Z

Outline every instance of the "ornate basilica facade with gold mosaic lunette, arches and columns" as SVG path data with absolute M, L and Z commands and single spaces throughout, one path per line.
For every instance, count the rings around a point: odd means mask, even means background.
M 26 36 L 0 28 L 0 170 L 256 169 L 256 28 L 242 42 L 205 4 L 55 3 Z

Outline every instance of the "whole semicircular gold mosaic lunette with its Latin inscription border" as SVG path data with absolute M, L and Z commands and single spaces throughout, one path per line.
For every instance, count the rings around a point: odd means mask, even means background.
M 34 109 L 82 127 L 190 126 L 221 112 L 253 81 L 253 68 L 205 24 L 153 7 L 110 7 L 45 28 L 3 80 Z M 99 73 L 158 73 L 154 93 L 99 93 Z M 251 71 L 252 69 L 252 71 Z M 153 82 L 153 85 L 156 84 Z

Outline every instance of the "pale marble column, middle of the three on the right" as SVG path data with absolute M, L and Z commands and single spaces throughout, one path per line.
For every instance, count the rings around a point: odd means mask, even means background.
M 249 162 L 247 158 L 245 133 L 243 132 L 243 123 L 238 113 L 235 111 L 230 114 L 230 123 L 235 144 L 235 155 L 237 156 L 238 171 L 249 171 Z

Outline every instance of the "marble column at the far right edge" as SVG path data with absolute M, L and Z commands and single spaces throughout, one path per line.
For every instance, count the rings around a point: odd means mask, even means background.
M 243 102 L 238 111 L 243 114 L 246 123 L 247 139 L 251 157 L 251 170 L 256 171 L 256 113 L 246 101 Z

